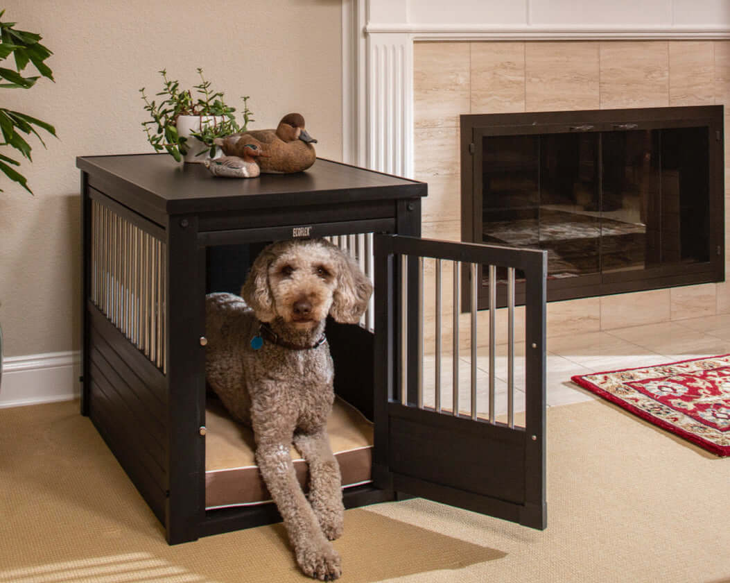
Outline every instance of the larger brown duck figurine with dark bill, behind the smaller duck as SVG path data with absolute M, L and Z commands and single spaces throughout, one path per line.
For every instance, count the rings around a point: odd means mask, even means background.
M 227 156 L 242 156 L 247 145 L 257 145 L 261 172 L 283 174 L 312 166 L 317 159 L 312 146 L 316 142 L 304 129 L 304 117 L 299 113 L 285 115 L 275 130 L 258 129 L 214 140 Z

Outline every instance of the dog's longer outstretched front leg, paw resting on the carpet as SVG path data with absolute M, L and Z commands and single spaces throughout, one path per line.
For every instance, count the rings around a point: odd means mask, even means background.
M 342 574 L 339 554 L 325 538 L 312 507 L 296 481 L 294 465 L 285 440 L 259 441 L 256 461 L 272 495 L 304 574 L 332 581 Z

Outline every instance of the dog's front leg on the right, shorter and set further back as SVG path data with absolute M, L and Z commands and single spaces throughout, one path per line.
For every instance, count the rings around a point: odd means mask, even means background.
M 345 506 L 342 504 L 342 478 L 332 454 L 326 430 L 296 433 L 294 446 L 310 466 L 310 504 L 325 536 L 334 541 L 342 536 Z

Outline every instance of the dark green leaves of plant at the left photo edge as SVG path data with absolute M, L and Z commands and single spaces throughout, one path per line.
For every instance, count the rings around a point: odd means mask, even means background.
M 4 14 L 4 10 L 0 11 L 0 19 Z M 0 87 L 7 89 L 30 89 L 39 80 L 40 76 L 55 81 L 53 79 L 53 72 L 43 62 L 53 53 L 41 45 L 40 40 L 42 37 L 32 32 L 16 30 L 13 28 L 14 26 L 14 22 L 2 22 L 0 20 L 0 61 L 5 61 L 11 55 L 15 57 L 15 70 L 0 67 L 0 77 L 4 81 L 4 83 L 0 83 Z M 24 77 L 22 75 L 22 72 L 29 63 L 33 64 L 40 75 L 31 77 Z M 55 137 L 55 129 L 50 123 L 32 118 L 25 113 L 0 107 L 0 132 L 2 133 L 3 139 L 0 145 L 15 148 L 23 158 L 31 162 L 33 161 L 31 158 L 32 148 L 22 134 L 26 134 L 26 136 L 34 134 L 45 148 L 45 142 L 37 129 L 45 130 L 45 132 Z M 7 178 L 14 180 L 33 194 L 33 191 L 28 187 L 26 177 L 20 174 L 13 166 L 20 166 L 20 162 L 0 153 L 0 169 Z M 0 192 L 2 192 L 1 188 Z

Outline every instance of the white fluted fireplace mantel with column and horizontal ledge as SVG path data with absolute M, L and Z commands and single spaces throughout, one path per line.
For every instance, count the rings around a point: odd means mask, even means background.
M 412 178 L 416 40 L 585 39 L 730 39 L 730 1 L 345 1 L 343 158 Z

